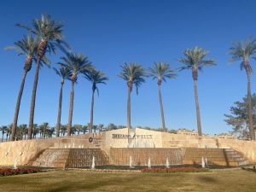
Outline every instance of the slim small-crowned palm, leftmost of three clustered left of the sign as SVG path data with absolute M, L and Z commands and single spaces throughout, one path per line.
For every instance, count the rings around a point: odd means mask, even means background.
M 59 109 L 58 109 L 58 119 L 56 125 L 56 137 L 60 136 L 60 127 L 61 127 L 61 106 L 62 106 L 62 89 L 65 79 L 70 79 L 72 73 L 68 67 L 61 66 L 59 69 L 54 68 L 55 73 L 61 77 L 61 90 L 59 96 Z

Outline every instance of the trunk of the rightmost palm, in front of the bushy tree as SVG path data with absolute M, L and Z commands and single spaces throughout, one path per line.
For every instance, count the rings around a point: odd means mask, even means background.
M 252 94 L 251 94 L 251 71 L 249 67 L 246 67 L 247 72 L 247 111 L 249 120 L 249 131 L 251 140 L 255 140 L 255 131 L 253 128 L 253 105 L 252 105 Z

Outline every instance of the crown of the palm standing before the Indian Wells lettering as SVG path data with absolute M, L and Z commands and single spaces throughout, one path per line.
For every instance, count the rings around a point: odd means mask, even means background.
M 127 82 L 130 81 L 131 84 L 135 84 L 138 94 L 138 88 L 142 83 L 145 82 L 144 78 L 149 76 L 149 74 L 145 71 L 146 69 L 136 62 L 131 64 L 125 63 L 123 66 L 121 66 L 121 73 L 119 73 L 119 78 L 124 79 Z

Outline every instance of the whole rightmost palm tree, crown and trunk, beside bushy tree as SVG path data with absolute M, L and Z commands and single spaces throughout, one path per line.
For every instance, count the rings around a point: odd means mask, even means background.
M 231 62 L 241 61 L 241 70 L 244 68 L 247 73 L 247 111 L 249 131 L 252 140 L 255 140 L 255 130 L 253 128 L 253 105 L 251 94 L 251 75 L 252 67 L 250 65 L 250 58 L 256 59 L 256 39 L 248 38 L 247 42 L 233 42 L 230 47 L 230 55 L 232 55 Z

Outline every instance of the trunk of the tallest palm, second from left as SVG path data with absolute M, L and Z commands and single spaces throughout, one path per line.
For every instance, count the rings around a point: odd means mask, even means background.
M 38 56 L 37 69 L 36 69 L 36 74 L 34 78 L 33 90 L 32 90 L 32 101 L 30 106 L 29 125 L 28 125 L 28 133 L 27 133 L 28 140 L 32 139 L 32 128 L 34 124 L 34 112 L 35 112 L 36 94 L 37 94 L 37 88 L 38 88 L 38 75 L 39 75 L 39 69 L 40 69 L 40 62 L 41 62 L 41 57 Z

